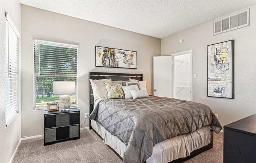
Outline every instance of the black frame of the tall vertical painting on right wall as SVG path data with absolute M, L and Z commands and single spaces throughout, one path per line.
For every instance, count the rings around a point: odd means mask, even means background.
M 216 45 L 216 44 L 219 44 L 219 43 L 225 43 L 225 42 L 231 42 L 231 97 L 219 97 L 219 96 L 209 96 L 209 92 L 208 92 L 208 87 L 209 87 L 209 78 L 208 78 L 208 47 L 209 46 L 212 46 L 212 45 Z M 228 41 L 223 41 L 223 42 L 219 42 L 219 43 L 214 43 L 214 44 L 211 44 L 211 45 L 207 45 L 207 97 L 214 97 L 214 98 L 229 98 L 229 99 L 234 99 L 234 40 L 228 40 Z

